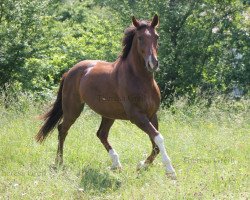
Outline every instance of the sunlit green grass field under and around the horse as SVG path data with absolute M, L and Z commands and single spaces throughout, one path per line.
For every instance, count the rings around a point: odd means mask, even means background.
M 23 111 L 24 110 L 24 111 Z M 23 103 L 0 108 L 0 199 L 249 199 L 249 101 L 187 107 L 179 101 L 160 110 L 160 132 L 178 180 L 164 174 L 160 156 L 146 171 L 137 163 L 151 151 L 142 131 L 116 121 L 110 141 L 121 172 L 95 136 L 100 117 L 89 109 L 71 128 L 64 166 L 53 168 L 57 132 L 34 141 L 42 109 Z

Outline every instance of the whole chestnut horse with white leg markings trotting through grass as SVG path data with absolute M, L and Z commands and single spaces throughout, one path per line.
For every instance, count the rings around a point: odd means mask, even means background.
M 115 62 L 84 60 L 77 63 L 61 80 L 57 99 L 43 115 L 44 124 L 36 135 L 42 142 L 58 125 L 56 163 L 63 162 L 63 144 L 68 130 L 79 117 L 86 103 L 102 116 L 97 137 L 112 159 L 112 169 L 121 168 L 119 156 L 108 142 L 108 134 L 115 119 L 130 120 L 148 134 L 152 152 L 138 169 L 146 168 L 160 152 L 167 175 L 175 179 L 175 170 L 167 155 L 163 136 L 158 131 L 156 112 L 160 105 L 160 91 L 154 80 L 158 69 L 159 19 L 144 21 L 132 18 L 133 25 L 125 30 L 122 54 Z

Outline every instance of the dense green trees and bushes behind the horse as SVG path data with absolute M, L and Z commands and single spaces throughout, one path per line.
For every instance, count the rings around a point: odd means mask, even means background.
M 0 86 L 46 97 L 84 59 L 114 61 L 131 16 L 160 16 L 163 99 L 249 91 L 250 9 L 229 0 L 1 0 Z

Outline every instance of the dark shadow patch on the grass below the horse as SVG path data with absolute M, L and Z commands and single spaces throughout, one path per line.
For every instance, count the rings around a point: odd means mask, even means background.
M 121 187 L 121 181 L 108 172 L 101 173 L 99 170 L 89 167 L 83 169 L 82 172 L 80 187 L 84 189 L 84 192 L 105 193 Z

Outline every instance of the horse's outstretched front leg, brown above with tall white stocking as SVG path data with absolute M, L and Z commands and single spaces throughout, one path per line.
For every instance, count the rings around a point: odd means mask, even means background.
M 161 133 L 153 126 L 152 122 L 146 117 L 146 115 L 142 114 L 141 112 L 134 112 L 130 115 L 130 121 L 137 125 L 141 130 L 146 132 L 150 139 L 158 146 L 159 151 L 162 156 L 162 163 L 165 167 L 166 174 L 171 179 L 176 179 L 176 173 L 172 166 L 171 160 L 167 154 L 165 145 L 164 145 L 164 138 Z M 155 155 L 155 154 L 154 154 Z M 147 161 L 147 160 L 146 160 Z M 148 162 L 150 161 L 150 158 Z

